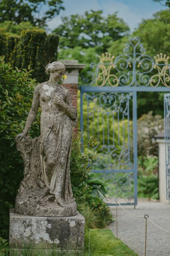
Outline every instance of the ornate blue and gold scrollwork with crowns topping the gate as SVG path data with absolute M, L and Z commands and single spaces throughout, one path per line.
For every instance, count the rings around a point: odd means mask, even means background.
M 91 64 L 95 71 L 88 72 L 92 76 L 89 85 L 170 87 L 169 56 L 147 55 L 139 37 L 129 38 L 123 52 L 116 58 L 108 52 L 99 56 L 99 63 Z

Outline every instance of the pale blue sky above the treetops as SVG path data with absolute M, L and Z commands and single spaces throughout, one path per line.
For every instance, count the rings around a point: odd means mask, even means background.
M 63 2 L 65 10 L 48 22 L 51 30 L 61 24 L 62 16 L 77 13 L 82 15 L 85 11 L 103 10 L 105 16 L 118 12 L 118 17 L 123 18 L 130 30 L 133 31 L 142 19 L 151 18 L 153 13 L 168 9 L 168 7 L 155 3 L 153 0 L 64 0 Z

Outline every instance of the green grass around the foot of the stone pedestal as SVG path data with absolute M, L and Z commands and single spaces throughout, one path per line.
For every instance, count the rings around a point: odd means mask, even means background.
M 52 250 L 45 253 L 40 250 L 38 253 L 23 248 L 22 256 L 82 256 L 80 253 L 68 253 L 66 251 L 57 252 Z M 17 256 L 17 253 L 13 254 Z M 0 256 L 8 256 L 8 247 L 0 248 Z M 117 240 L 109 229 L 86 229 L 85 250 L 83 256 L 137 256 L 137 254 L 127 247 L 121 240 Z

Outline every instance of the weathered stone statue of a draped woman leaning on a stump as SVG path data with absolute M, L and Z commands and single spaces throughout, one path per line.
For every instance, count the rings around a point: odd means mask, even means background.
M 65 66 L 55 61 L 46 66 L 47 82 L 37 85 L 25 128 L 16 137 L 23 157 L 24 179 L 16 198 L 15 212 L 41 216 L 77 214 L 70 180 L 70 155 L 77 111 L 67 89 L 58 84 Z M 27 136 L 41 108 L 39 138 Z

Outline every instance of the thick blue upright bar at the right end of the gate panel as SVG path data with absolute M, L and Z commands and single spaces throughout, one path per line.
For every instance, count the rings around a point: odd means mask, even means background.
M 134 204 L 137 205 L 137 92 L 133 92 L 133 177 L 134 177 Z

